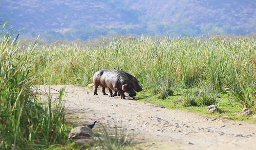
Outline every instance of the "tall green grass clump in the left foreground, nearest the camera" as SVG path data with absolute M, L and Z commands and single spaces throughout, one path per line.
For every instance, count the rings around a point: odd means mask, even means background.
M 0 149 L 34 149 L 61 142 L 65 123 L 58 103 L 39 103 L 31 90 L 36 43 L 22 49 L 10 30 L 0 31 Z

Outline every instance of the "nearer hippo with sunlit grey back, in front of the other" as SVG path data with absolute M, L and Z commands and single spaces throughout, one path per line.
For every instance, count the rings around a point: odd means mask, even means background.
M 93 75 L 93 83 L 94 95 L 98 95 L 97 88 L 101 86 L 103 95 L 107 95 L 105 93 L 105 87 L 108 87 L 111 97 L 114 97 L 112 90 L 118 91 L 123 99 L 125 99 L 123 91 L 128 93 L 130 97 L 136 96 L 133 82 L 124 73 L 116 69 L 101 69 L 95 72 Z

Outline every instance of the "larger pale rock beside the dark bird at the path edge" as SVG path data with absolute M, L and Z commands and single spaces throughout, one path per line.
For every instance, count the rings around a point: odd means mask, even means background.
M 91 129 L 86 126 L 76 127 L 69 133 L 68 139 L 78 138 L 79 136 L 91 137 L 93 135 Z

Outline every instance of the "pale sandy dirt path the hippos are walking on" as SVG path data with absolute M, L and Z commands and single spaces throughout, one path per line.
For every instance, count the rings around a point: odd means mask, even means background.
M 97 120 L 111 127 L 127 128 L 140 140 L 155 143 L 145 149 L 256 149 L 256 124 L 104 96 L 100 90 L 99 95 L 93 95 L 92 90 L 75 85 L 51 86 L 56 90 L 60 87 L 66 87 L 67 113 L 79 114 L 81 123 Z M 44 94 L 45 88 L 41 90 Z M 57 95 L 55 90 L 51 93 Z

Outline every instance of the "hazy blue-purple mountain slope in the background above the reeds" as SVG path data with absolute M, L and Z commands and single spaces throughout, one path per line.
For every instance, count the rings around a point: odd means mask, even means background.
M 0 20 L 24 37 L 93 39 L 100 35 L 256 33 L 251 0 L 0 0 Z

